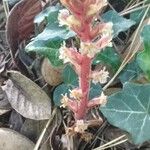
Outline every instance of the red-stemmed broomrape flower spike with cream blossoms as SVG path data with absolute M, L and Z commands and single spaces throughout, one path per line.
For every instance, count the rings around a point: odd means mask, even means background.
M 60 0 L 67 8 L 60 11 L 58 20 L 60 26 L 66 25 L 73 30 L 80 39 L 80 48 L 67 48 L 65 43 L 59 49 L 59 58 L 64 63 L 73 65 L 78 78 L 79 87 L 70 90 L 69 98 L 63 95 L 62 107 L 73 111 L 75 118 L 75 131 L 84 132 L 86 113 L 96 105 L 105 105 L 107 96 L 101 93 L 99 97 L 89 100 L 90 81 L 104 84 L 109 77 L 105 67 L 100 71 L 92 71 L 92 61 L 97 53 L 111 45 L 112 23 L 93 22 L 99 12 L 106 6 L 106 0 Z

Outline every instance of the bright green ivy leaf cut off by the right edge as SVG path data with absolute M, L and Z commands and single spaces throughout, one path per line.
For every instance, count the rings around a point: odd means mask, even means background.
M 144 43 L 144 50 L 137 55 L 137 62 L 150 80 L 150 25 L 143 28 L 141 37 Z

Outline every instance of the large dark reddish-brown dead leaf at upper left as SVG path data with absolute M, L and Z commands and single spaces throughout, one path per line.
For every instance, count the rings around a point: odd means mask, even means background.
M 12 55 L 18 49 L 19 43 L 29 38 L 34 31 L 34 17 L 42 10 L 40 0 L 21 0 L 10 11 L 6 34 Z

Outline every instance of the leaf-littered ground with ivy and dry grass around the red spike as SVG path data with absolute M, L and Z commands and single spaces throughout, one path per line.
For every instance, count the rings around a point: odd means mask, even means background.
M 72 113 L 59 106 L 78 79 L 58 50 L 64 40 L 79 41 L 58 25 L 58 3 L 0 2 L 0 149 L 150 150 L 150 1 L 109 0 L 103 10 L 100 20 L 113 22 L 113 47 L 92 67 L 107 66 L 110 80 L 91 85 L 90 98 L 104 90 L 109 100 L 87 115 L 103 123 L 76 136 L 65 131 Z

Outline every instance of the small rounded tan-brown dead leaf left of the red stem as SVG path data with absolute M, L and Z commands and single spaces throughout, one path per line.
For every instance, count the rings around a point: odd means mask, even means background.
M 54 68 L 50 64 L 47 58 L 43 60 L 41 72 L 42 72 L 43 78 L 49 85 L 56 86 L 63 81 L 62 71 L 63 71 L 62 67 Z

